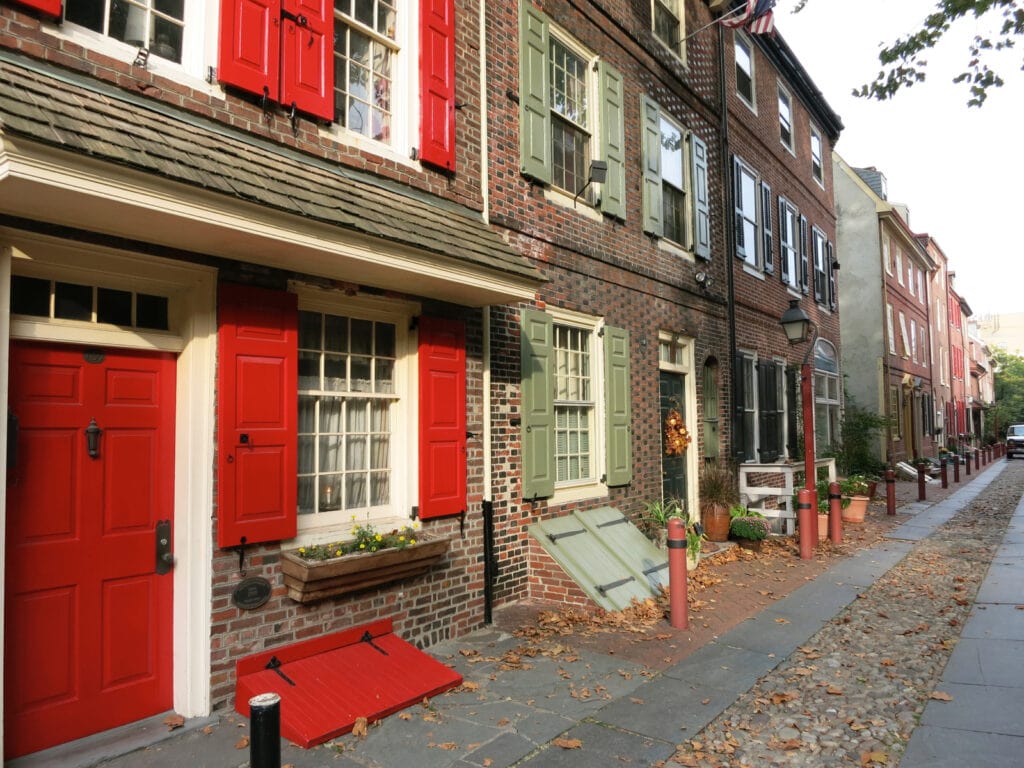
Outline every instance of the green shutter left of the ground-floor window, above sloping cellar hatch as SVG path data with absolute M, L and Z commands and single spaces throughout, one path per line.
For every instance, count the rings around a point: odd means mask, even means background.
M 524 309 L 519 327 L 522 382 L 522 498 L 555 493 L 554 326 L 551 316 Z

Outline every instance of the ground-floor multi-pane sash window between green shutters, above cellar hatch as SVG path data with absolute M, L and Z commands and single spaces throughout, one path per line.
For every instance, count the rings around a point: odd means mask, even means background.
M 554 327 L 555 481 L 590 480 L 594 475 L 594 395 L 591 332 Z

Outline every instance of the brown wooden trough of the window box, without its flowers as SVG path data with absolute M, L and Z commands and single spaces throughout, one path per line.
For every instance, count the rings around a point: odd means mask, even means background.
M 286 550 L 281 553 L 281 569 L 288 596 L 311 603 L 422 575 L 444 558 L 450 541 L 421 536 L 404 549 L 353 552 L 330 560 L 305 560 L 298 550 Z

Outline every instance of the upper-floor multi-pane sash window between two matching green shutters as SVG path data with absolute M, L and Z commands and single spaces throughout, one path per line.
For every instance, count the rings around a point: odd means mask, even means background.
M 549 61 L 552 183 L 575 195 L 587 182 L 590 167 L 587 61 L 554 36 Z

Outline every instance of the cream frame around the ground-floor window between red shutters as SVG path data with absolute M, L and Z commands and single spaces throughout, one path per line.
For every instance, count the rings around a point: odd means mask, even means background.
M 346 296 L 338 291 L 301 283 L 290 284 L 289 290 L 298 295 L 299 311 L 389 323 L 395 328 L 394 404 L 389 414 L 392 435 L 391 502 L 386 507 L 360 509 L 354 514 L 352 510 L 340 509 L 298 515 L 298 535 L 294 543 L 304 546 L 347 539 L 355 525 L 368 522 L 378 529 L 409 524 L 419 487 L 418 440 L 397 437 L 418 434 L 417 340 L 409 329 L 413 317 L 421 312 L 419 303 L 372 296 Z M 303 391 L 299 390 L 300 393 Z M 295 407 L 298 409 L 298 397 Z

